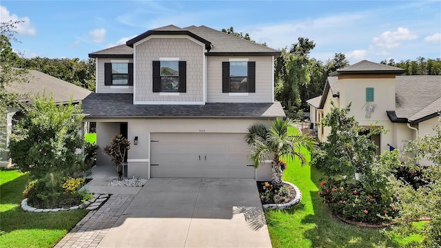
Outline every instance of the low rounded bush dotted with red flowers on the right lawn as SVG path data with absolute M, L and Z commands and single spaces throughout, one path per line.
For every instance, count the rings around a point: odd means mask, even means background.
M 379 224 L 396 216 L 393 197 L 365 189 L 360 182 L 327 179 L 320 183 L 318 195 L 331 211 L 347 220 Z

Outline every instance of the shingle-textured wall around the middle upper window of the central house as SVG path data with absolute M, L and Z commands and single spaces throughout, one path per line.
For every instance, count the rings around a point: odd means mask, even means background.
M 134 45 L 134 101 L 138 104 L 161 104 L 161 102 L 203 103 L 205 46 L 182 36 L 149 38 Z M 161 96 L 153 89 L 152 61 L 160 58 L 178 58 L 187 61 L 187 92 L 178 96 Z

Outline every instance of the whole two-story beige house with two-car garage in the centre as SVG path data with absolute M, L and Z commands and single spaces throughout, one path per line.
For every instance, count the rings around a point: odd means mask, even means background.
M 96 92 L 83 101 L 99 147 L 115 134 L 132 143 L 132 178 L 255 178 L 243 140 L 253 123 L 285 116 L 274 101 L 280 51 L 205 26 L 167 25 L 89 54 Z M 112 162 L 100 150 L 97 167 Z

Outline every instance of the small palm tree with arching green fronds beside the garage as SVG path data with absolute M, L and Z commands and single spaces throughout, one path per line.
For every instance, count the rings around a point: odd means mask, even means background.
M 304 134 L 289 134 L 288 127 L 294 125 L 289 118 L 276 118 L 271 123 L 269 130 L 262 123 L 254 123 L 248 127 L 248 134 L 245 141 L 252 147 L 249 158 L 254 162 L 254 167 L 273 156 L 271 161 L 272 184 L 275 187 L 282 186 L 283 161 L 280 157 L 287 157 L 291 160 L 300 158 L 302 165 L 306 163 L 305 155 L 301 152 L 301 147 L 311 150 L 314 148 L 314 138 Z

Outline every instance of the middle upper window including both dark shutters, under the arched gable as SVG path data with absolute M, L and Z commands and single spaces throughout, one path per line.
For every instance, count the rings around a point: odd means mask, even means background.
M 186 61 L 153 61 L 153 92 L 187 92 Z

